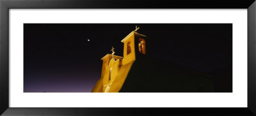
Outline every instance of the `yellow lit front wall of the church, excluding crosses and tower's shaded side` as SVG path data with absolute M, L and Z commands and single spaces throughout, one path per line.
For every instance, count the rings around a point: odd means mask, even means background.
M 131 43 L 131 53 L 127 54 L 127 43 Z M 119 92 L 135 59 L 134 32 L 122 40 L 124 43 L 124 58 L 111 54 L 102 57 L 101 77 L 93 87 L 92 92 Z

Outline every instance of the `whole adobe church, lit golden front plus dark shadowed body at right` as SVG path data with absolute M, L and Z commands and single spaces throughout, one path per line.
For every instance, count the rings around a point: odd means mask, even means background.
M 140 28 L 140 27 L 139 27 Z M 102 73 L 92 92 L 214 92 L 212 76 L 147 56 L 147 36 L 128 34 L 123 57 L 102 57 Z

